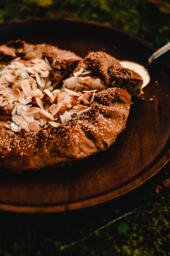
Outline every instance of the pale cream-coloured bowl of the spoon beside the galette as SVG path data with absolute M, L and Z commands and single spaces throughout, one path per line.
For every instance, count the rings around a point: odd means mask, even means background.
M 135 71 L 136 73 L 138 73 L 142 77 L 142 79 L 143 79 L 142 89 L 149 84 L 150 75 L 144 66 L 140 65 L 137 62 L 133 62 L 133 61 L 129 61 L 129 60 L 121 60 L 120 64 L 122 65 L 123 68 L 131 69 L 131 70 Z

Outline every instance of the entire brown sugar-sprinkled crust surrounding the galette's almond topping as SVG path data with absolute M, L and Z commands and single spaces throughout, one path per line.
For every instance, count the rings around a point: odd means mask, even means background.
M 50 80 L 54 87 L 58 87 L 65 77 L 72 76 L 81 68 L 84 72 L 91 70 L 94 77 L 100 77 L 104 81 L 104 88 L 110 87 L 113 81 L 117 81 L 118 75 L 126 82 L 141 81 L 139 75 L 134 74 L 133 71 L 129 73 L 129 70 L 126 70 L 126 73 L 122 73 L 125 69 L 119 61 L 104 52 L 91 52 L 85 59 L 82 59 L 70 51 L 64 51 L 48 44 L 32 45 L 17 40 L 8 42 L 7 46 L 0 46 L 0 60 L 7 61 L 18 56 L 23 60 L 47 58 L 53 68 Z M 135 95 L 140 93 L 141 91 L 138 91 Z M 45 129 L 40 126 L 37 131 L 21 129 L 16 132 L 7 129 L 5 121 L 10 115 L 2 116 L 4 111 L 2 108 L 0 171 L 21 173 L 47 166 L 57 167 L 106 150 L 115 142 L 118 134 L 125 129 L 131 96 L 124 89 L 108 88 L 96 93 L 94 97 L 90 104 L 91 109 L 81 115 L 57 127 L 49 125 Z M 33 99 L 31 104 L 34 104 Z M 32 106 L 34 109 L 39 108 L 37 104 Z

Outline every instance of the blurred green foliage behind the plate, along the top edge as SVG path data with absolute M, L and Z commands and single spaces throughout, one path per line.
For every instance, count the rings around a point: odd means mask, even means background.
M 90 20 L 160 47 L 170 40 L 170 0 L 0 0 L 0 22 L 29 18 Z

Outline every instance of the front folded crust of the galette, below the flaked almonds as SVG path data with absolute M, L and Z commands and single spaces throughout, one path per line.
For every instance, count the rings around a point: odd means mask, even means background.
M 106 150 L 125 129 L 130 104 L 126 90 L 109 88 L 96 94 L 89 111 L 65 125 L 38 132 L 13 132 L 1 125 L 1 171 L 21 173 L 57 167 Z

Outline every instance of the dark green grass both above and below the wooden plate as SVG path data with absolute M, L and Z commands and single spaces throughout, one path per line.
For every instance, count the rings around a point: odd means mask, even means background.
M 165 9 L 147 0 L 1 0 L 0 22 L 37 17 L 91 20 L 160 47 L 170 40 L 170 12 Z M 1 212 L 0 256 L 170 255 L 170 189 L 162 184 L 169 177 L 170 165 L 130 194 L 81 211 Z M 159 194 L 157 185 L 162 187 Z

